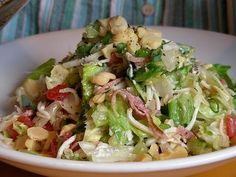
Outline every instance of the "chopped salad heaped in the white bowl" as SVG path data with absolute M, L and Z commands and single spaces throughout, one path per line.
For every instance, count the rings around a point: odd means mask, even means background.
M 11 148 L 59 159 L 155 161 L 236 143 L 230 66 L 121 16 L 89 24 L 76 50 L 50 58 L 15 91 L 0 118 Z

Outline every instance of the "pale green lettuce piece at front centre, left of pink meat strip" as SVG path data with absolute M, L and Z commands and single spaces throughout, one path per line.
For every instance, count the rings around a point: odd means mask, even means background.
M 132 128 L 127 120 L 127 109 L 126 102 L 120 97 L 117 98 L 114 108 L 112 108 L 110 102 L 105 102 L 93 109 L 91 117 L 94 125 L 97 128 L 109 127 L 109 134 L 111 136 L 109 144 L 126 145 L 133 142 Z

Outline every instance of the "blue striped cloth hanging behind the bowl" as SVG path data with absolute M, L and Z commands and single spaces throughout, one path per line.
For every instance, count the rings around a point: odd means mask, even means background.
M 149 4 L 153 13 L 145 15 Z M 236 35 L 236 0 L 31 0 L 0 31 L 0 43 L 84 27 L 98 18 L 124 16 L 133 25 L 206 29 Z

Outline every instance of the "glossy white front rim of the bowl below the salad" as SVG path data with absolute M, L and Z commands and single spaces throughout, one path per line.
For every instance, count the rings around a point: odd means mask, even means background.
M 0 160 L 13 161 L 36 167 L 80 172 L 133 173 L 178 170 L 224 161 L 236 156 L 236 147 L 185 158 L 151 162 L 96 163 L 43 157 L 0 147 Z

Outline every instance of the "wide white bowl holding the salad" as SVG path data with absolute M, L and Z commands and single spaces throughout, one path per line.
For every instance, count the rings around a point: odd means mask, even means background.
M 183 28 L 158 28 L 163 36 L 196 48 L 196 56 L 209 63 L 232 66 L 236 74 L 236 37 Z M 0 46 L 0 115 L 13 109 L 8 98 L 24 76 L 48 58 L 62 59 L 74 51 L 82 30 L 46 33 Z M 216 167 L 236 157 L 236 147 L 188 158 L 129 163 L 94 163 L 40 157 L 17 152 L 0 144 L 0 160 L 45 176 L 188 176 Z

